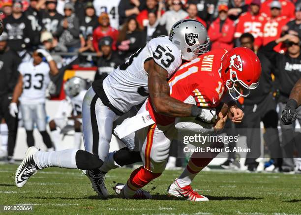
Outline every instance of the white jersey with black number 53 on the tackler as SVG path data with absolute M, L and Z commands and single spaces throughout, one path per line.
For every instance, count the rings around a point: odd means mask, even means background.
M 149 96 L 149 74 L 144 63 L 151 59 L 168 72 L 166 78 L 171 77 L 182 63 L 181 51 L 168 36 L 154 38 L 139 49 L 103 81 L 109 101 L 121 112 L 127 112 Z

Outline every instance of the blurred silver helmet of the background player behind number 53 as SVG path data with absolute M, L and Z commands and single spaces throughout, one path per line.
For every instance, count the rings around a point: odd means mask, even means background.
M 68 79 L 64 84 L 65 94 L 69 97 L 76 96 L 81 91 L 85 90 L 87 87 L 87 82 L 80 77 L 72 77 Z

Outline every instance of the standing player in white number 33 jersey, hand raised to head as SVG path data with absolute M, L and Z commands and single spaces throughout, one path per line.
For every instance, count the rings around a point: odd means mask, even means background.
M 44 57 L 48 63 L 43 61 Z M 16 117 L 19 100 L 27 134 L 27 145 L 29 147 L 34 146 L 33 126 L 35 123 L 48 151 L 53 151 L 52 141 L 46 131 L 45 100 L 50 73 L 52 75 L 59 73 L 57 64 L 47 51 L 38 49 L 33 52 L 30 61 L 22 62 L 19 65 L 18 71 L 20 75 L 9 105 L 10 114 Z

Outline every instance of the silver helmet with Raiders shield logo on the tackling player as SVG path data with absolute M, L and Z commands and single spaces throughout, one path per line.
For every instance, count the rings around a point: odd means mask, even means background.
M 192 61 L 209 51 L 210 40 L 205 26 L 194 19 L 181 20 L 173 25 L 169 39 L 182 53 L 182 59 Z

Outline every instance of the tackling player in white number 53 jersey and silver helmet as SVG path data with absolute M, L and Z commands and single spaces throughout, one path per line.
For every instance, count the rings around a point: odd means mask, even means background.
M 182 20 L 172 27 L 169 37 L 152 39 L 104 80 L 94 81 L 83 102 L 86 151 L 64 150 L 47 153 L 31 147 L 17 169 L 16 185 L 23 187 L 37 170 L 50 166 L 83 169 L 89 170 L 87 176 L 98 195 L 107 198 L 108 191 L 104 186 L 105 171 L 101 166 L 105 159 L 110 159 L 107 154 L 113 122 L 134 105 L 145 101 L 149 95 L 157 113 L 171 117 L 198 117 L 206 122 L 216 119 L 215 110 L 185 104 L 170 97 L 167 82 L 181 65 L 182 59 L 191 61 L 206 53 L 209 43 L 206 28 L 200 22 Z M 133 133 L 121 140 L 134 146 Z M 127 156 L 125 160 L 141 160 L 139 152 L 137 153 L 138 156 Z

